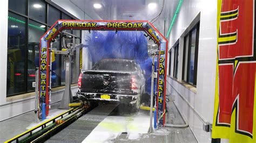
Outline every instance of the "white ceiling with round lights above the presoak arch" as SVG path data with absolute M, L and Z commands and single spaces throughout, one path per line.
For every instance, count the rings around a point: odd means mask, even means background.
M 158 16 L 163 8 L 164 0 L 70 0 L 78 8 L 90 15 L 97 13 L 95 20 L 152 20 Z M 158 30 L 164 34 L 164 21 L 166 17 L 165 5 L 159 19 L 153 23 Z M 148 4 L 157 3 L 156 9 L 150 10 Z M 103 5 L 100 9 L 93 8 L 93 4 L 100 3 Z M 166 30 L 165 30 L 166 31 Z

